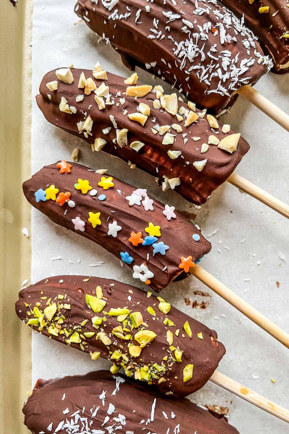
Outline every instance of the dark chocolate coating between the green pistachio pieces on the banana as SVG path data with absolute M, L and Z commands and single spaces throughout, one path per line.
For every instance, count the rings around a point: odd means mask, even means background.
M 85 279 L 88 279 L 86 282 Z M 63 283 L 60 281 L 63 280 Z M 85 294 L 95 296 L 95 288 L 101 286 L 103 291 L 103 299 L 106 301 L 106 305 L 99 313 L 94 313 L 88 308 L 85 302 Z M 65 299 L 58 299 L 58 294 L 65 296 Z M 41 299 L 46 297 L 46 299 Z M 101 352 L 101 357 L 107 358 L 114 362 L 119 367 L 123 366 L 124 369 L 130 371 L 132 378 L 135 372 L 140 372 L 140 368 L 143 366 L 150 366 L 152 376 L 149 378 L 149 382 L 152 382 L 156 388 L 163 394 L 169 393 L 175 396 L 187 396 L 192 392 L 200 389 L 208 379 L 211 377 L 218 364 L 225 354 L 224 345 L 217 340 L 218 335 L 214 330 L 208 329 L 201 322 L 196 321 L 185 313 L 171 306 L 169 312 L 165 315 L 158 308 L 159 300 L 151 295 L 147 297 L 147 293 L 142 289 L 138 289 L 134 286 L 127 285 L 125 283 L 117 282 L 111 279 L 102 279 L 100 277 L 88 277 L 88 276 L 56 276 L 43 279 L 35 285 L 30 285 L 28 288 L 23 289 L 19 293 L 19 300 L 16 302 L 16 313 L 23 322 L 27 322 L 31 318 L 36 318 L 33 314 L 33 308 L 38 303 L 40 311 L 46 307 L 46 302 L 51 298 L 51 303 L 68 303 L 71 305 L 71 309 L 59 308 L 58 312 L 53 317 L 58 317 L 60 313 L 65 316 L 64 321 L 60 324 L 60 329 L 71 329 L 71 333 L 75 331 L 76 327 L 78 334 L 81 335 L 82 342 L 71 342 L 71 346 L 80 349 L 84 352 Z M 30 307 L 26 307 L 27 303 Z M 39 306 L 40 303 L 40 306 Z M 147 311 L 148 307 L 152 307 L 156 312 L 153 316 Z M 104 312 L 109 312 L 111 308 L 124 308 L 132 312 L 141 312 L 143 322 L 147 327 L 141 325 L 138 328 L 131 326 L 130 319 L 125 325 L 129 331 L 125 334 L 131 334 L 130 340 L 121 339 L 115 335 L 112 335 L 114 327 L 119 325 L 123 326 L 122 322 L 117 321 L 117 316 L 109 316 Z M 32 311 L 31 311 L 32 309 Z M 27 315 L 27 312 L 32 312 L 31 315 Z M 106 317 L 107 321 L 103 321 L 99 329 L 95 329 L 92 325 L 92 320 L 95 315 L 103 318 Z M 165 325 L 163 321 L 168 318 L 174 323 L 174 325 Z M 85 325 L 81 326 L 84 320 L 88 320 Z M 183 325 L 188 321 L 192 330 L 192 338 L 184 331 Z M 57 324 L 57 321 L 55 321 Z M 33 329 L 41 331 L 43 335 L 51 336 L 58 342 L 62 342 L 67 345 L 67 334 L 52 335 L 48 329 L 51 322 L 47 322 L 47 325 L 42 329 L 40 325 L 34 325 Z M 40 327 L 40 330 L 39 330 Z M 123 326 L 124 327 L 124 326 Z M 128 344 L 139 345 L 133 336 L 136 332 L 142 329 L 148 329 L 156 333 L 156 338 L 153 339 L 148 345 L 146 345 L 139 357 L 132 357 L 128 351 Z M 179 335 L 175 335 L 175 331 L 179 329 Z M 176 362 L 174 356 L 174 350 L 169 350 L 169 343 L 166 340 L 167 331 L 173 333 L 173 346 L 179 347 L 182 354 L 182 361 Z M 111 339 L 109 349 L 99 340 L 96 339 L 97 332 L 104 331 Z M 83 333 L 95 332 L 95 335 L 91 338 L 85 338 Z M 198 333 L 202 333 L 202 338 L 198 338 Z M 184 335 L 184 337 L 182 337 Z M 68 343 L 69 344 L 69 343 Z M 114 351 L 120 351 L 127 356 L 127 361 L 122 357 L 118 360 L 114 358 L 110 359 Z M 168 360 L 163 361 L 163 357 L 167 356 Z M 95 362 L 97 363 L 97 362 Z M 153 364 L 157 363 L 159 366 L 166 368 L 165 372 L 158 372 Z M 193 364 L 193 376 L 192 379 L 183 382 L 183 369 L 186 365 Z M 149 371 L 150 372 L 150 371 Z M 155 378 L 153 378 L 155 376 Z M 163 382 L 158 384 L 159 378 L 163 378 Z M 166 381 L 164 381 L 164 379 Z M 143 380 L 144 381 L 144 380 Z

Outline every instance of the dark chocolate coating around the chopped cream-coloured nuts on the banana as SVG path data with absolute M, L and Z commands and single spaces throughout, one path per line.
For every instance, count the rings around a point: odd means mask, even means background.
M 110 94 L 114 98 L 114 105 L 106 105 L 105 109 L 99 110 L 97 103 L 94 101 L 94 92 L 90 95 L 84 95 L 84 89 L 78 89 L 78 82 L 81 72 L 84 72 L 86 78 L 91 77 L 97 86 L 101 85 L 103 80 L 94 79 L 92 71 L 87 69 L 72 69 L 74 77 L 72 84 L 66 84 L 58 80 L 58 90 L 50 92 L 46 83 L 57 80 L 55 70 L 45 74 L 40 85 L 40 95 L 37 95 L 36 100 L 39 108 L 45 118 L 63 130 L 70 132 L 73 135 L 81 137 L 89 144 L 94 144 L 94 138 L 103 138 L 107 144 L 102 148 L 103 151 L 109 154 L 116 155 L 125 161 L 131 161 L 138 168 L 143 169 L 149 174 L 159 177 L 159 184 L 164 177 L 180 178 L 180 185 L 175 187 L 175 191 L 185 197 L 188 201 L 201 205 L 204 204 L 212 192 L 223 184 L 227 178 L 233 173 L 237 164 L 249 150 L 249 145 L 242 137 L 240 137 L 237 150 L 232 154 L 218 148 L 216 145 L 209 145 L 208 151 L 201 153 L 202 143 L 208 143 L 210 135 L 216 136 L 219 140 L 234 134 L 233 130 L 224 134 L 221 129 L 223 124 L 218 121 L 219 128 L 212 129 L 208 123 L 206 116 L 198 118 L 198 122 L 193 122 L 188 127 L 184 126 L 184 121 L 178 122 L 176 116 L 171 115 L 166 110 L 154 109 L 153 100 L 156 99 L 156 93 L 149 92 L 143 98 L 134 99 L 125 95 L 127 85 L 124 84 L 123 78 L 107 73 L 108 80 L 104 83 L 109 86 Z M 47 94 L 51 95 L 51 101 Z M 81 102 L 75 102 L 77 95 L 84 95 Z M 116 95 L 120 95 L 117 96 Z M 68 101 L 68 105 L 75 106 L 76 114 L 68 114 L 59 110 L 59 103 L 62 99 Z M 120 98 L 125 98 L 123 105 L 119 104 Z M 138 122 L 134 122 L 128 118 L 128 114 L 137 112 L 137 107 L 140 103 L 145 103 L 150 107 L 150 116 L 144 126 Z M 117 104 L 119 106 L 117 107 Z M 188 109 L 188 105 L 178 102 L 179 109 L 184 107 Z M 90 109 L 88 109 L 90 107 Z M 123 115 L 123 110 L 127 110 L 128 114 Z M 83 113 L 87 113 L 94 121 L 91 130 L 92 135 L 88 138 L 84 137 L 83 133 L 79 133 L 77 123 L 84 120 Z M 198 114 L 201 114 L 197 110 Z M 109 116 L 113 115 L 117 128 L 127 128 L 128 145 L 122 148 L 115 142 L 116 131 L 113 127 Z M 155 122 L 152 122 L 155 120 Z M 175 141 L 172 145 L 162 145 L 164 136 L 153 134 L 151 128 L 155 125 L 172 125 L 177 124 L 182 127 L 182 132 L 177 133 L 171 128 L 172 134 L 175 134 Z M 105 135 L 102 130 L 110 127 L 109 134 Z M 183 134 L 186 134 L 187 142 L 184 143 Z M 200 137 L 198 141 L 194 141 L 192 137 Z M 113 142 L 114 140 L 114 142 Z M 131 142 L 140 140 L 145 145 L 140 151 L 136 152 L 130 148 Z M 178 158 L 171 159 L 167 151 L 180 151 L 182 154 Z M 205 168 L 198 171 L 193 163 L 207 159 Z

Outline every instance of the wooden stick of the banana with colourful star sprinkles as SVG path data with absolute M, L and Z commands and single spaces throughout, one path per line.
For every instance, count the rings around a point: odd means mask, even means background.
M 281 342 L 287 348 L 289 348 L 289 334 L 284 332 L 278 325 L 262 315 L 257 309 L 250 306 L 249 303 L 244 301 L 241 297 L 235 294 L 231 289 L 227 288 L 223 283 L 219 282 L 208 271 L 204 270 L 199 265 L 195 265 L 189 269 L 195 277 L 201 282 L 205 283 L 215 293 L 219 294 L 224 300 L 229 302 L 232 306 L 242 312 L 247 318 L 251 319 L 255 324 L 259 325 L 265 332 L 269 333 L 277 341 Z

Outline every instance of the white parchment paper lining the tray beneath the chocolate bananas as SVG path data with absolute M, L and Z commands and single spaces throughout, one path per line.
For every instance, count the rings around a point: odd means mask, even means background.
M 124 77 L 130 75 L 114 49 L 103 42 L 98 43 L 99 38 L 84 23 L 78 22 L 73 12 L 74 3 L 72 0 L 34 1 L 32 173 L 58 159 L 70 160 L 71 152 L 78 147 L 81 164 L 95 169 L 108 168 L 110 174 L 137 187 L 146 187 L 157 199 L 192 213 L 193 222 L 201 226 L 205 236 L 218 230 L 208 238 L 212 251 L 201 265 L 288 330 L 289 231 L 284 217 L 227 183 L 212 194 L 208 204 L 196 210 L 176 193 L 162 193 L 148 174 L 139 169 L 131 170 L 126 163 L 110 158 L 104 152 L 92 154 L 80 138 L 72 137 L 45 121 L 35 102 L 45 72 L 71 63 L 77 68 L 92 69 L 98 60 L 103 69 Z M 153 85 L 161 82 L 163 85 L 161 80 L 153 80 L 149 73 L 137 72 L 140 82 Z M 256 89 L 289 112 L 288 76 L 270 74 L 261 79 Z M 241 97 L 222 120 L 242 132 L 251 144 L 249 154 L 236 172 L 288 203 L 288 133 Z M 104 261 L 102 266 L 91 266 L 100 261 Z M 33 209 L 32 283 L 65 273 L 105 276 L 142 287 L 139 281 L 132 279 L 128 267 L 120 266 L 117 258 L 76 233 L 56 226 Z M 195 291 L 208 292 L 210 296 L 198 296 Z M 218 331 L 227 349 L 219 366 L 221 372 L 289 407 L 286 348 L 194 277 L 172 283 L 162 296 Z M 199 304 L 208 302 L 208 306 L 205 309 L 193 308 L 195 300 Z M 91 361 L 89 355 L 39 334 L 32 336 L 32 384 L 39 377 L 73 375 L 109 366 L 109 362 L 101 359 Z M 190 398 L 200 404 L 229 408 L 229 421 L 241 433 L 288 432 L 286 423 L 210 382 Z

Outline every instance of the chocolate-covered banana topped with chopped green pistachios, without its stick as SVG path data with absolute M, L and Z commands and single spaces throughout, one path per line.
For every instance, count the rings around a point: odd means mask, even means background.
M 201 388 L 225 354 L 217 333 L 161 297 L 111 279 L 56 276 L 22 289 L 16 313 L 65 345 L 166 395 Z

